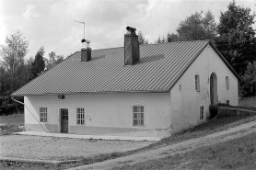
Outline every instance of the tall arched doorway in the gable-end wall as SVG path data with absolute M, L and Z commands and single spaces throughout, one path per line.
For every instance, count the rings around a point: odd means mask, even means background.
M 211 105 L 217 105 L 217 76 L 215 73 L 211 74 L 210 77 L 210 98 L 211 98 Z

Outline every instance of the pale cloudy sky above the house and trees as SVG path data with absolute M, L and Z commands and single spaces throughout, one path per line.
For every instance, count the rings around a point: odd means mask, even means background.
M 176 33 L 181 20 L 195 12 L 211 10 L 218 23 L 231 0 L 0 0 L 0 44 L 19 30 L 29 41 L 34 57 L 43 46 L 64 56 L 81 49 L 86 21 L 86 40 L 92 50 L 122 47 L 126 27 L 142 31 L 149 42 L 168 32 Z M 237 5 L 256 12 L 255 0 L 237 0 Z M 252 13 L 251 13 L 252 14 Z M 256 24 L 253 25 L 256 29 Z

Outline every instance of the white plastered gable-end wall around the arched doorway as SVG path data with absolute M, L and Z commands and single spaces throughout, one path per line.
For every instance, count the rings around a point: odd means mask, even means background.
M 210 76 L 212 73 L 217 76 L 218 102 L 227 103 L 227 100 L 230 100 L 230 105 L 238 105 L 237 77 L 228 69 L 212 47 L 208 46 L 170 91 L 172 133 L 192 128 L 209 118 Z M 195 91 L 195 74 L 200 75 L 200 93 Z M 226 89 L 226 76 L 229 76 L 229 90 Z M 179 91 L 179 85 L 181 85 L 181 91 Z M 201 105 L 204 105 L 204 120 L 200 120 Z

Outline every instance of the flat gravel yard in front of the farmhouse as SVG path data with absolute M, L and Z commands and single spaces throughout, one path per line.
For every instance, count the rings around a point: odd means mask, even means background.
M 0 156 L 42 160 L 68 160 L 102 153 L 125 152 L 153 142 L 102 141 L 56 137 L 6 135 L 0 137 Z

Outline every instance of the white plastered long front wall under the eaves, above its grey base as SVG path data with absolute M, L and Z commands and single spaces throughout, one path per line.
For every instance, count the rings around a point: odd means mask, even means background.
M 134 104 L 145 106 L 144 127 L 133 126 Z M 76 130 L 82 130 L 81 126 L 137 130 L 168 129 L 171 122 L 169 93 L 66 95 L 64 100 L 58 99 L 57 95 L 25 96 L 25 106 L 27 125 L 39 124 L 39 108 L 48 108 L 48 122 L 43 125 L 46 125 L 46 129 L 52 126 L 54 132 L 60 131 L 60 127 L 56 127 L 59 125 L 60 108 L 68 108 L 69 126 L 77 126 Z M 77 107 L 85 108 L 85 125 L 76 125 Z M 30 127 L 32 130 L 32 126 Z

